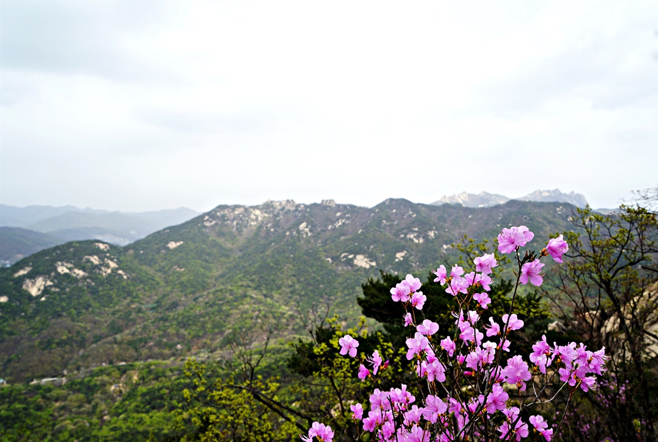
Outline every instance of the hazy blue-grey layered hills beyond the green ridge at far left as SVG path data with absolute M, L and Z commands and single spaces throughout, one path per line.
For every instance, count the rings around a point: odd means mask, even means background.
M 0 263 L 12 264 L 44 248 L 74 240 L 102 240 L 125 246 L 170 225 L 188 221 L 199 212 L 173 210 L 126 213 L 74 206 L 0 204 Z

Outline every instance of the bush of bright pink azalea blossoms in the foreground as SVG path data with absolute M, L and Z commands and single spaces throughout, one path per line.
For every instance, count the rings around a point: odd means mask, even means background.
M 588 391 L 595 387 L 595 375 L 605 370 L 608 359 L 605 347 L 590 351 L 582 343 L 549 345 L 542 336 L 532 346 L 528 359 L 508 355 L 509 339 L 524 326 L 524 321 L 512 313 L 517 288 L 528 282 L 540 286 L 544 277 L 540 257 L 550 255 L 561 263 L 562 255 L 569 250 L 559 235 L 549 240 L 539 256 L 526 252 L 520 257 L 520 248 L 533 238 L 525 226 L 503 229 L 498 236 L 498 251 L 514 253 L 519 265 L 509 313 L 500 321 L 490 317 L 488 324 L 483 324 L 481 320 L 492 301 L 489 292 L 493 281 L 489 275 L 498 265 L 493 253 L 476 257 L 470 273 L 457 265 L 449 272 L 443 265 L 433 271 L 434 282 L 445 286 L 445 292 L 457 302 L 453 334 L 441 335 L 439 324 L 432 320 L 415 320 L 415 311 L 422 310 L 426 302 L 418 278 L 407 275 L 391 289 L 393 301 L 402 303 L 407 311 L 403 317 L 405 326 L 412 328 L 406 341 L 406 358 L 413 361 L 418 380 L 427 388 L 426 392 L 421 391 L 423 397 L 417 398 L 404 384 L 389 391 L 377 387 L 370 395 L 366 417 L 363 405 L 351 405 L 353 420 L 361 422 L 363 432 L 374 433 L 370 440 L 520 441 L 532 433 L 551 441 L 553 428 L 548 428 L 544 417 L 538 412 L 533 414 L 530 407 L 550 401 L 552 398 L 542 397 L 547 391 L 566 388 L 573 394 L 578 388 Z M 339 344 L 341 355 L 357 356 L 357 340 L 345 335 Z M 379 352 L 374 351 L 367 358 L 362 357 L 362 362 L 359 379 L 369 379 L 379 386 L 378 372 L 388 366 L 388 361 L 382 361 Z M 555 387 L 549 389 L 549 385 Z M 318 441 L 331 442 L 330 428 L 320 433 L 322 424 L 316 424 L 309 430 L 309 438 L 303 439 L 311 441 L 315 435 Z

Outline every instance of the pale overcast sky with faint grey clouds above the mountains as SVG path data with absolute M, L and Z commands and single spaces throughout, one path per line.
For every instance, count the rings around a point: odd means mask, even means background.
M 0 2 L 0 202 L 658 185 L 656 1 Z

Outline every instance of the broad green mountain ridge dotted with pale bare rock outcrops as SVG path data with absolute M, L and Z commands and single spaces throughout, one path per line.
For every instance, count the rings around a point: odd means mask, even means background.
M 425 280 L 455 261 L 451 244 L 464 234 L 493 240 L 511 225 L 527 225 L 541 249 L 573 228 L 574 210 L 517 200 L 480 209 L 289 200 L 218 206 L 124 247 L 69 242 L 0 269 L 0 370 L 23 380 L 213 351 L 231 330 L 255 324 L 290 336 L 303 332 L 313 306 L 356 320 L 361 284 L 380 269 Z

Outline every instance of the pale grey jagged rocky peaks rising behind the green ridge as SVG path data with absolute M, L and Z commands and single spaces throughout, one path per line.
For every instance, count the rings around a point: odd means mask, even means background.
M 440 200 L 435 201 L 432 204 L 434 204 L 434 206 L 440 206 L 441 204 L 460 204 L 464 207 L 487 208 L 499 204 L 505 204 L 509 200 L 565 202 L 579 208 L 587 206 L 587 200 L 582 194 L 575 192 L 563 193 L 557 188 L 555 190 L 535 190 L 534 192 L 529 193 L 526 196 L 520 196 L 519 198 L 508 198 L 504 195 L 489 192 L 480 192 L 479 194 L 461 192 L 450 196 L 444 195 Z

